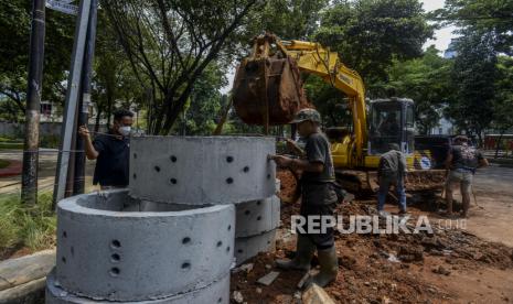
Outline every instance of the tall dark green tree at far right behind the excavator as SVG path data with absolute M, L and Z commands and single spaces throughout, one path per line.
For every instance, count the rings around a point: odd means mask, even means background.
M 452 69 L 455 100 L 447 113 L 456 126 L 469 134 L 478 135 L 490 127 L 495 98 L 496 54 L 494 36 L 490 33 L 466 31 L 456 46 L 458 56 Z

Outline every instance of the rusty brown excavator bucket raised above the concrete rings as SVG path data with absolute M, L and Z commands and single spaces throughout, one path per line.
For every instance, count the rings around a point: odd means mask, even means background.
M 257 44 L 255 50 L 269 47 L 265 40 Z M 244 59 L 235 75 L 233 105 L 248 124 L 286 124 L 297 111 L 308 107 L 296 61 L 281 53 L 267 54 L 268 50 L 265 55 Z

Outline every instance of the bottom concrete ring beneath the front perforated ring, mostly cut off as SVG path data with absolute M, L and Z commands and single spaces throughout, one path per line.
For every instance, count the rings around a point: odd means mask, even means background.
M 78 296 L 63 290 L 58 282 L 55 280 L 55 273 L 50 273 L 46 276 L 46 303 L 47 304 L 107 304 L 115 303 L 109 301 L 95 301 L 89 297 Z M 137 301 L 137 302 L 122 302 L 122 303 L 138 303 L 138 304 L 190 304 L 190 303 L 212 303 L 212 304 L 227 304 L 229 303 L 229 273 L 221 280 L 212 282 L 210 285 L 191 291 L 188 293 L 173 295 L 170 297 L 158 298 L 152 301 Z

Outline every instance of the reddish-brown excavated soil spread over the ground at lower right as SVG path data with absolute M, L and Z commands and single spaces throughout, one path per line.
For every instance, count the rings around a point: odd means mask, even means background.
M 284 177 L 281 175 L 280 177 Z M 293 178 L 293 177 L 292 177 Z M 282 192 L 292 184 L 282 180 Z M 436 214 L 424 202 L 412 207 L 408 228 L 420 215 L 427 215 L 432 234 L 341 235 L 335 236 L 339 276 L 325 291 L 336 303 L 507 303 L 513 301 L 513 249 L 485 241 Z M 387 206 L 396 211 L 395 206 Z M 250 270 L 236 269 L 232 274 L 232 297 L 239 293 L 241 303 L 300 303 L 297 284 L 299 271 L 281 271 L 274 260 L 293 257 L 295 235 L 290 216 L 299 213 L 299 202 L 282 203 L 281 230 L 277 250 L 260 253 L 247 261 Z M 341 205 L 338 215 L 375 215 L 374 199 Z M 452 226 L 449 226 L 452 225 Z M 458 225 L 461 225 L 459 221 Z M 318 262 L 316 258 L 312 265 Z M 270 271 L 279 276 L 265 286 L 256 281 Z M 232 298 L 233 303 L 237 303 Z

